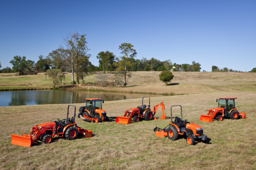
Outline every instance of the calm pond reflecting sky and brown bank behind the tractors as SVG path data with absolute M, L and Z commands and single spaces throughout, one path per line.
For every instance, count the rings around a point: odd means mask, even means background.
M 161 95 L 67 90 L 0 91 L 0 106 L 74 104 L 83 103 L 83 98 L 100 98 L 105 101 L 111 101 L 142 98 L 145 96 L 158 97 Z

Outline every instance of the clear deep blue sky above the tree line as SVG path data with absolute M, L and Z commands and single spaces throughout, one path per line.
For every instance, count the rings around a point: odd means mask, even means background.
M 37 62 L 86 34 L 90 61 L 131 43 L 137 58 L 250 71 L 256 67 L 256 1 L 0 1 L 0 62 L 15 55 Z

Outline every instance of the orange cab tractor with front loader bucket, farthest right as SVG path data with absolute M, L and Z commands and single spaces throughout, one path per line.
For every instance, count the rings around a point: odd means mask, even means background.
M 222 121 L 223 117 L 230 117 L 231 119 L 237 120 L 238 118 L 246 118 L 245 112 L 238 112 L 235 106 L 235 99 L 237 97 L 226 97 L 218 98 L 216 102 L 219 101 L 218 107 L 210 109 L 207 115 L 201 115 L 200 121 L 212 122 L 214 119 L 217 121 Z

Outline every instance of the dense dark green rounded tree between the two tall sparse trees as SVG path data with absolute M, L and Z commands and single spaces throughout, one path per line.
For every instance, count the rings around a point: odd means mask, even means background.
M 99 66 L 103 67 L 103 72 L 113 69 L 113 63 L 115 61 L 114 53 L 111 53 L 109 51 L 100 52 L 97 55 L 97 58 L 99 59 L 99 63 L 100 63 Z

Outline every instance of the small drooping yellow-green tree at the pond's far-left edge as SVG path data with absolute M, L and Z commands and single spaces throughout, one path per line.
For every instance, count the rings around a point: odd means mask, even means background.
M 56 87 L 57 84 L 61 84 L 62 79 L 65 80 L 65 74 L 62 73 L 62 71 L 56 70 L 56 69 L 48 69 L 45 72 L 45 78 L 50 78 L 52 79 L 52 83 L 53 83 L 53 88 Z

